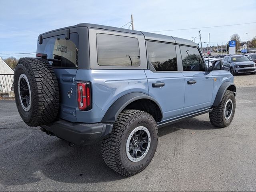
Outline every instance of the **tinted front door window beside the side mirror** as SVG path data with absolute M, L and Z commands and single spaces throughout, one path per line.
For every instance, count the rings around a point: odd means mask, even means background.
M 184 71 L 205 71 L 205 65 L 198 48 L 180 46 Z

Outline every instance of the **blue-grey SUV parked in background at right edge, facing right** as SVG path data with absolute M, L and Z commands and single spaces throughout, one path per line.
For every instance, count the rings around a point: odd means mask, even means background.
M 237 73 L 256 73 L 256 64 L 244 55 L 225 56 L 222 60 L 223 70 Z

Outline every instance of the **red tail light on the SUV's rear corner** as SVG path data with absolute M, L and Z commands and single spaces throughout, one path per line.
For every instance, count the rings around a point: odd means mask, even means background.
M 86 111 L 92 108 L 91 98 L 91 83 L 90 82 L 78 82 L 77 83 L 77 101 L 79 110 Z

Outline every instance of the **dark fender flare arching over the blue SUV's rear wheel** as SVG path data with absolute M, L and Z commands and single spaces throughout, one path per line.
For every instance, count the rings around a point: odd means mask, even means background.
M 140 92 L 133 92 L 128 93 L 120 98 L 118 98 L 111 106 L 108 108 L 107 112 L 105 113 L 104 117 L 102 118 L 102 122 L 115 122 L 118 115 L 128 104 L 139 100 L 139 99 L 149 99 L 155 102 L 158 107 L 161 110 L 162 116 L 162 108 L 160 107 L 160 104 L 152 97 L 148 96 L 147 94 L 140 93 Z

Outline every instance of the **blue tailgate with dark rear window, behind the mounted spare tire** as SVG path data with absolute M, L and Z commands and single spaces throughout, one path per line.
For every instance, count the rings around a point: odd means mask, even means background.
M 70 33 L 70 38 L 58 35 L 44 38 L 38 43 L 37 53 L 47 54 L 50 65 L 58 79 L 60 89 L 59 117 L 76 122 L 76 84 L 78 68 L 78 33 Z

